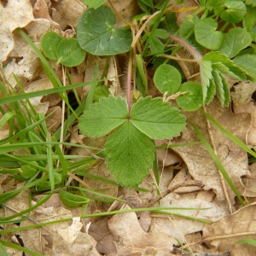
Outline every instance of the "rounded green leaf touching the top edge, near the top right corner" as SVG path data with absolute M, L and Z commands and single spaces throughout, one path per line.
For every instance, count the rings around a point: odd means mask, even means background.
M 228 1 L 224 3 L 225 10 L 220 18 L 230 23 L 238 23 L 247 13 L 247 7 L 242 1 Z

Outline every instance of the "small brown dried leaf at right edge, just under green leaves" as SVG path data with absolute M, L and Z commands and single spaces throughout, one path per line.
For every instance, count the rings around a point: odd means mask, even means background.
M 235 106 L 241 106 L 247 103 L 256 90 L 256 83 L 251 81 L 239 81 L 239 84 L 233 86 L 235 91 L 231 91 L 231 97 Z

